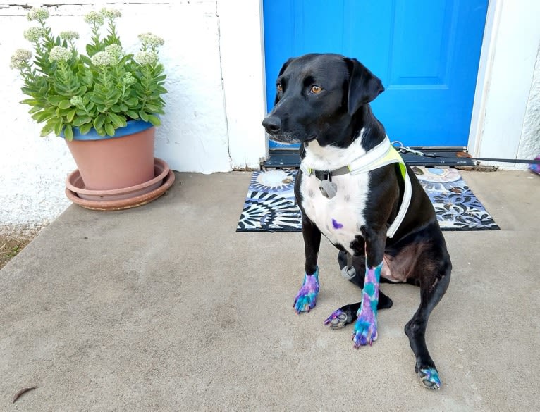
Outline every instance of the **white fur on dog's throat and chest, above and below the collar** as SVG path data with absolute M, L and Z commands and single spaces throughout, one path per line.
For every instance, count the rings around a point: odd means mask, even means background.
M 310 142 L 302 163 L 314 170 L 336 170 L 347 166 L 350 161 L 365 153 L 360 146 L 360 138 L 348 149 L 321 147 L 317 142 Z M 362 235 L 360 227 L 365 223 L 369 173 L 333 176 L 332 182 L 337 185 L 337 194 L 328 199 L 321 193 L 317 177 L 302 175 L 302 208 L 330 242 L 340 244 L 350 254 L 354 254 L 350 244 L 357 235 Z

